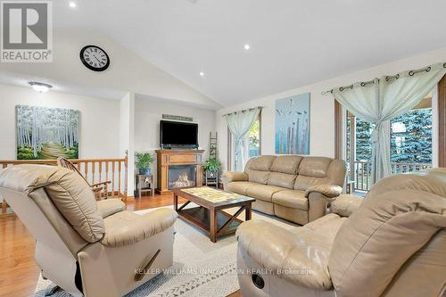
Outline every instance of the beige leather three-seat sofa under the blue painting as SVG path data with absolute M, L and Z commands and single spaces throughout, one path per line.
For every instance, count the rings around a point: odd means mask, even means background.
M 345 171 L 343 160 L 263 155 L 221 179 L 226 191 L 255 198 L 254 210 L 303 225 L 326 214 L 326 198 L 342 193 Z

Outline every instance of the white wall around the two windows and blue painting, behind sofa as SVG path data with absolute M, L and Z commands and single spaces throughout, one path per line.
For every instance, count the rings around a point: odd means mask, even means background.
M 238 111 L 253 106 L 263 106 L 261 114 L 261 152 L 274 154 L 275 102 L 290 95 L 310 92 L 310 154 L 327 157 L 335 156 L 335 103 L 331 95 L 322 95 L 323 91 L 333 87 L 347 86 L 358 81 L 366 81 L 383 75 L 392 75 L 403 70 L 425 67 L 436 62 L 446 62 L 446 48 L 418 54 L 396 62 L 386 63 L 366 70 L 353 72 L 338 78 L 298 87 L 276 95 L 268 95 L 247 103 L 236 104 L 217 111 L 216 129 L 219 132 L 219 159 L 227 166 L 227 124 L 221 117 L 230 111 Z M 297 65 L 296 65 L 297 66 Z M 435 147 L 434 147 L 435 149 Z M 434 152 L 434 156 L 435 156 Z M 435 158 L 434 158 L 435 159 Z

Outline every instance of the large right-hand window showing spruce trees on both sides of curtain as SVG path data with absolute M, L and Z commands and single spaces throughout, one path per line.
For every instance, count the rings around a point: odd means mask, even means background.
M 427 95 L 412 110 L 391 120 L 392 172 L 402 173 L 430 168 L 433 161 L 432 95 Z M 372 144 L 370 137 L 375 124 L 353 116 L 347 111 L 345 156 L 349 179 L 356 191 L 371 186 Z

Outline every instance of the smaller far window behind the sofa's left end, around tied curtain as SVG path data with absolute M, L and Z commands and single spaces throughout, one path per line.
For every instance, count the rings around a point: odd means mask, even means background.
M 261 154 L 261 139 L 260 139 L 260 131 L 261 131 L 261 117 L 259 115 L 259 118 L 252 124 L 252 128 L 250 129 L 249 133 L 244 137 L 242 140 L 243 145 L 243 160 L 240 160 L 240 157 L 236 155 L 235 153 L 235 144 L 234 139 L 229 131 L 227 130 L 227 136 L 228 136 L 228 169 L 232 170 L 236 168 L 237 162 L 241 161 L 244 164 L 246 162 L 255 156 L 260 156 Z

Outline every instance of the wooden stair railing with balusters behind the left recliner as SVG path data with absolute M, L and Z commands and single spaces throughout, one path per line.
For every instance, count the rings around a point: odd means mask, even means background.
M 89 185 L 103 184 L 107 186 L 107 197 L 127 200 L 128 189 L 128 158 L 122 159 L 76 159 L 70 163 L 84 177 Z M 1 160 L 0 169 L 20 164 L 40 164 L 57 166 L 57 160 Z M 0 197 L 1 198 L 1 197 Z M 7 204 L 0 199 L 2 205 L 0 213 L 6 213 Z

